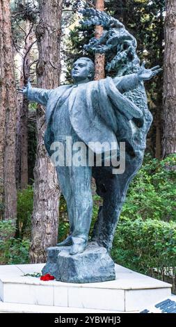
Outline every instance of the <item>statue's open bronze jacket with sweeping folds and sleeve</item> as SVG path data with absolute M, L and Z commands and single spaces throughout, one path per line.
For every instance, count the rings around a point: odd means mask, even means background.
M 120 77 L 119 83 L 122 79 L 125 79 L 125 83 L 129 83 L 126 89 L 130 89 L 136 83 L 136 74 L 125 78 Z M 117 150 L 119 141 L 124 140 L 131 144 L 135 152 L 133 131 L 136 123 L 131 123 L 131 120 L 132 118 L 136 118 L 136 122 L 142 120 L 142 112 L 120 93 L 113 79 L 108 77 L 100 81 L 90 81 L 77 86 L 77 92 L 73 93 L 72 90 L 73 86 L 60 86 L 55 90 L 32 88 L 28 95 L 32 101 L 40 102 L 47 107 L 45 146 L 50 156 L 52 153 L 50 146 L 54 142 L 54 135 L 51 131 L 52 115 L 59 107 L 63 96 L 68 97 L 70 122 L 74 131 L 93 152 L 99 154 L 102 150 L 98 145 L 96 147 L 97 143 L 112 144 L 111 150 Z M 106 147 L 104 152 L 106 152 Z

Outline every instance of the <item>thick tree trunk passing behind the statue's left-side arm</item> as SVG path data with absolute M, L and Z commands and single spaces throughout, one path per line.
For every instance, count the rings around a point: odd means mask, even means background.
M 60 81 L 61 15 L 63 0 L 40 1 L 40 22 L 36 28 L 39 62 L 38 87 L 56 88 Z M 35 162 L 34 205 L 32 218 L 31 262 L 45 262 L 46 250 L 58 238 L 58 188 L 56 171 L 43 143 L 45 115 L 37 109 L 38 147 Z

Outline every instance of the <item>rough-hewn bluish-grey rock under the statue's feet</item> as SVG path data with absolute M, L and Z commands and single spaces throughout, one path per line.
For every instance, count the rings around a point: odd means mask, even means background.
M 107 250 L 89 244 L 79 255 L 70 255 L 70 246 L 48 248 L 42 273 L 50 273 L 61 282 L 104 282 L 115 280 L 115 264 Z

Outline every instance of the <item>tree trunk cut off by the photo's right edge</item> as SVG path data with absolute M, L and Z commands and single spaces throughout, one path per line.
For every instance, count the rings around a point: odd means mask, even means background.
M 166 1 L 163 77 L 163 157 L 176 152 L 176 2 Z

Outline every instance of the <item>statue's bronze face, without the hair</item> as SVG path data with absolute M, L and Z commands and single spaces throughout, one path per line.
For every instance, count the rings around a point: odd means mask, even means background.
M 88 61 L 78 59 L 72 67 L 72 79 L 83 81 L 90 77 L 90 65 Z

